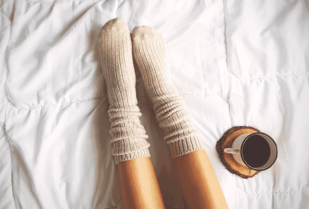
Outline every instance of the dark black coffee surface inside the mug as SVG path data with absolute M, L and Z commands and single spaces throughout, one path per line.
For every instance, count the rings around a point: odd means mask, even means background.
M 243 159 L 253 168 L 265 165 L 270 157 L 270 146 L 263 136 L 250 136 L 243 144 Z

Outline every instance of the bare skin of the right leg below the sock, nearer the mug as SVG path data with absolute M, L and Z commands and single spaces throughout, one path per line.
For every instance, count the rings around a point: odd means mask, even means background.
M 204 149 L 176 157 L 174 162 L 186 209 L 228 208 Z

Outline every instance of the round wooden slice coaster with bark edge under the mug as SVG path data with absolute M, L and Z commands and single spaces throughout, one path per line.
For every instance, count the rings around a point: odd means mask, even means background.
M 217 141 L 217 151 L 219 153 L 221 162 L 225 167 L 231 172 L 239 175 L 242 178 L 252 178 L 257 173 L 260 173 L 260 171 L 255 171 L 252 169 L 249 169 L 247 166 L 240 165 L 238 162 L 235 161 L 233 155 L 231 153 L 225 153 L 224 148 L 231 148 L 234 140 L 237 138 L 237 136 L 240 136 L 242 134 L 246 133 L 255 133 L 260 132 L 259 130 L 248 127 L 248 126 L 236 126 L 231 127 L 229 130 L 227 130 L 221 139 Z

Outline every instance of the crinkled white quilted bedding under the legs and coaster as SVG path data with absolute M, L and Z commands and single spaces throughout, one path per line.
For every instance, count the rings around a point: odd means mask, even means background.
M 233 208 L 309 207 L 309 3 L 2 0 L 0 208 L 122 209 L 97 35 L 121 17 L 163 34 Z M 183 208 L 164 133 L 137 73 L 138 106 L 167 208 Z M 216 142 L 233 126 L 273 137 L 276 163 L 243 179 Z

